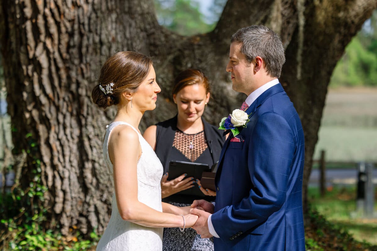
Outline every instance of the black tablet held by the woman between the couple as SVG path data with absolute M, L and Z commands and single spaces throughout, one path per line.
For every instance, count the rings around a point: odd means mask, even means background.
M 207 164 L 172 160 L 169 163 L 168 180 L 173 180 L 178 176 L 181 176 L 183 173 L 187 173 L 186 177 L 194 177 L 194 180 L 200 180 L 202 178 L 202 172 L 211 172 L 211 168 Z M 194 187 L 183 190 L 176 194 L 195 195 L 201 197 L 205 196 L 199 189 L 198 184 L 195 184 Z

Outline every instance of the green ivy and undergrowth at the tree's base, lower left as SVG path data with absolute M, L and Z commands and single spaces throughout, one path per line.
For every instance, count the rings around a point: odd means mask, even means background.
M 22 151 L 32 160 L 28 165 L 31 170 L 28 175 L 32 177 L 26 188 L 15 184 L 11 193 L 0 196 L 0 249 L 87 250 L 99 239 L 95 231 L 90 233 L 90 240 L 85 240 L 73 226 L 69 236 L 63 236 L 55 222 L 46 221 L 49 208 L 42 203 L 47 187 L 41 182 L 38 145 L 31 133 L 26 134 L 25 139 L 29 147 Z

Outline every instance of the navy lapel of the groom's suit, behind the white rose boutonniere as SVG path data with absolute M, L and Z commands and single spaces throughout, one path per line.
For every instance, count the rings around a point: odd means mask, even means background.
M 273 87 L 267 89 L 264 93 L 262 93 L 248 108 L 247 110 L 245 111 L 249 117 L 253 116 L 257 110 L 257 108 L 259 108 L 259 106 L 262 105 L 262 103 L 270 96 L 276 94 L 276 93 L 279 93 L 279 92 L 282 92 L 284 91 L 284 88 L 282 87 L 282 85 L 279 83 L 279 84 L 276 84 L 274 85 Z M 251 115 L 250 115 L 251 114 Z M 243 127 L 239 128 L 239 131 L 241 132 L 243 129 Z M 222 147 L 221 149 L 221 154 L 220 154 L 220 158 L 219 158 L 219 164 L 218 164 L 218 169 L 217 169 L 217 172 L 216 172 L 216 176 L 215 176 L 215 183 L 217 184 L 218 183 L 218 179 L 220 177 L 220 174 L 221 174 L 221 170 L 222 170 L 222 160 L 224 159 L 224 155 L 225 155 L 225 151 L 227 150 L 228 148 L 228 145 L 229 145 L 229 142 L 230 142 L 230 139 L 233 138 L 233 134 L 229 134 L 227 140 L 225 141 L 224 143 L 224 146 Z

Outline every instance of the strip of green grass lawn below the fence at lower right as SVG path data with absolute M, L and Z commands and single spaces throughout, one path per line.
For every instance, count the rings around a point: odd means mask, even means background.
M 329 189 L 331 190 L 331 189 Z M 377 190 L 376 190 L 377 195 Z M 356 210 L 356 187 L 334 187 L 320 198 L 317 187 L 309 187 L 308 199 L 313 209 L 317 210 L 325 218 L 341 228 L 348 231 L 354 239 L 360 242 L 368 242 L 377 245 L 377 218 L 362 219 L 351 216 Z M 377 212 L 377 198 L 374 208 Z

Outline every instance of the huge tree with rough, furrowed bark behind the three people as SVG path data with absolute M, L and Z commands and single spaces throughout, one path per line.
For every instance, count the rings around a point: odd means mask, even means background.
M 331 72 L 376 7 L 375 0 L 232 0 L 212 32 L 182 37 L 159 26 L 152 0 L 0 0 L 14 145 L 28 149 L 28 133 L 38 144 L 35 156 L 27 155 L 20 167 L 20 187 L 29 185 L 37 157 L 48 187 L 50 227 L 60 224 L 63 234 L 73 225 L 84 233 L 98 227 L 101 233 L 113 192 L 101 146 L 114 110 L 99 110 L 90 96 L 106 58 L 121 50 L 153 58 L 163 98 L 144 115 L 142 130 L 174 115 L 172 79 L 187 67 L 201 68 L 211 79 L 204 116 L 217 124 L 245 98 L 231 91 L 225 72 L 230 36 L 261 23 L 280 33 L 287 48 L 281 81 L 305 131 L 306 191 Z

